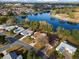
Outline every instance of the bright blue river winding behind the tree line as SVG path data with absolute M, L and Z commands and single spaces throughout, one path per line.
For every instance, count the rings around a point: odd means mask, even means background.
M 23 21 L 21 16 L 17 16 L 17 18 L 19 21 Z M 42 13 L 42 14 L 37 14 L 37 15 L 32 14 L 32 15 L 28 15 L 27 18 L 30 21 L 46 21 L 49 24 L 52 24 L 54 29 L 61 26 L 67 30 L 72 30 L 72 29 L 79 30 L 79 24 L 72 25 L 72 24 L 67 23 L 67 21 L 63 21 L 63 23 L 61 23 L 61 21 L 59 19 L 51 18 L 50 13 Z

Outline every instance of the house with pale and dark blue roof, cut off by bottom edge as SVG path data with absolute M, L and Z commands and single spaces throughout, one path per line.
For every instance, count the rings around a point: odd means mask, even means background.
M 10 52 L 3 56 L 3 59 L 23 59 L 22 55 L 17 55 L 16 52 Z

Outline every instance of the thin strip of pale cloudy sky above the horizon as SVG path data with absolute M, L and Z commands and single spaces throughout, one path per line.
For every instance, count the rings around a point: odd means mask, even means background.
M 79 2 L 79 0 L 0 0 L 1 2 Z

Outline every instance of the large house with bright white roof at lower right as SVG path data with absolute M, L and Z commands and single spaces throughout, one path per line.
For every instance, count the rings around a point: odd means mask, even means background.
M 69 45 L 66 41 L 64 41 L 60 43 L 60 45 L 56 48 L 56 50 L 59 51 L 60 53 L 68 51 L 68 53 L 74 54 L 77 48 L 72 45 Z

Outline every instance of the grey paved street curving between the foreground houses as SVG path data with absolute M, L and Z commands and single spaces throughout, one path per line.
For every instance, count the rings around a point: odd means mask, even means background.
M 29 49 L 32 49 L 32 50 L 34 50 L 35 52 L 38 51 L 36 48 L 32 47 L 31 45 L 25 44 L 25 43 L 23 43 L 23 42 L 21 42 L 21 41 L 15 41 L 15 42 L 12 43 L 12 44 L 7 44 L 7 45 L 5 45 L 3 48 L 0 48 L 0 52 L 5 51 L 5 50 L 8 49 L 8 48 L 12 48 L 12 47 L 15 46 L 15 45 L 21 45 L 22 47 L 24 47 L 24 48 L 26 48 L 26 49 L 28 49 L 28 50 L 29 50 Z M 43 59 L 47 59 L 47 56 L 46 56 L 45 54 L 43 55 Z

